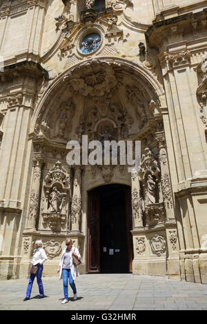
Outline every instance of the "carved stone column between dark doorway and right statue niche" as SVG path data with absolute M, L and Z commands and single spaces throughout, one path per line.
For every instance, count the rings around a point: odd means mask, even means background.
M 143 227 L 142 221 L 142 199 L 140 195 L 139 176 L 137 171 L 131 172 L 132 180 L 132 216 L 133 229 L 136 227 Z

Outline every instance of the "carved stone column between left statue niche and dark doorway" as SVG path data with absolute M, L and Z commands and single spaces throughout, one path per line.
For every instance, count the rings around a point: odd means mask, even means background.
M 74 180 L 73 180 L 73 192 L 72 192 L 72 206 L 71 206 L 71 231 L 81 231 L 81 167 L 75 166 L 74 168 Z

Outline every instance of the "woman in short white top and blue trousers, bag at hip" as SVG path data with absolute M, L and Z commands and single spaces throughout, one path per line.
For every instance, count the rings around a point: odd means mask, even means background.
M 30 274 L 30 280 L 28 283 L 28 289 L 26 292 L 26 298 L 23 299 L 23 301 L 28 301 L 30 299 L 30 294 L 32 292 L 32 285 L 35 276 L 37 275 L 37 283 L 39 286 L 39 298 L 44 297 L 44 290 L 43 290 L 43 283 L 41 281 L 41 275 L 43 272 L 43 262 L 45 262 L 48 259 L 46 256 L 45 250 L 42 248 L 42 241 L 35 241 L 34 243 L 34 256 L 32 259 L 32 265 L 38 265 L 38 271 L 37 274 Z

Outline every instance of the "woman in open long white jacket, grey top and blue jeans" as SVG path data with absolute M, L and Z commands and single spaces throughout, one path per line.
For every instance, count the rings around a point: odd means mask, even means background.
M 75 287 L 75 278 L 79 276 L 79 272 L 77 267 L 72 263 L 72 254 L 75 255 L 77 259 L 81 259 L 81 255 L 79 254 L 79 250 L 77 247 L 72 245 L 71 239 L 66 239 L 66 249 L 63 250 L 61 255 L 61 259 L 59 262 L 59 267 L 57 268 L 57 273 L 59 274 L 59 279 L 63 278 L 63 292 L 64 292 L 64 300 L 61 302 L 62 304 L 68 303 L 68 279 L 70 283 L 70 287 L 72 288 L 72 292 L 74 294 L 73 299 L 77 299 L 77 290 Z

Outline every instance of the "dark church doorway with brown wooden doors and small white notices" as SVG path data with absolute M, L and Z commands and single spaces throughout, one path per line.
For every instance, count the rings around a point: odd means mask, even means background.
M 88 273 L 132 270 L 130 187 L 103 185 L 88 192 Z

